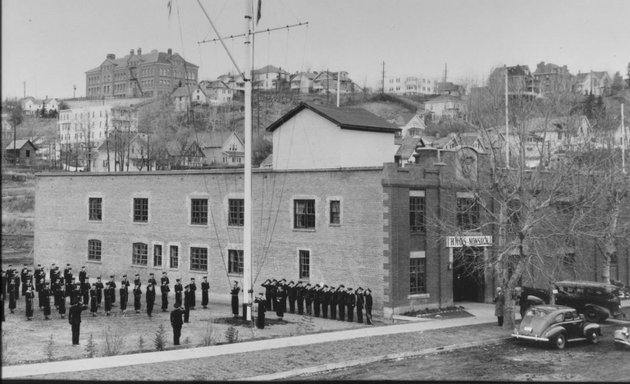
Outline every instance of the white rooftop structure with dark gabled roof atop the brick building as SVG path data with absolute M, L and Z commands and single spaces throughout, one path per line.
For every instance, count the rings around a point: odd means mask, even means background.
M 273 169 L 381 167 L 391 162 L 400 128 L 361 108 L 301 103 L 273 132 Z

